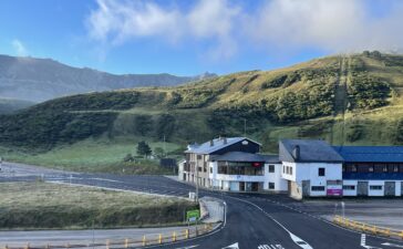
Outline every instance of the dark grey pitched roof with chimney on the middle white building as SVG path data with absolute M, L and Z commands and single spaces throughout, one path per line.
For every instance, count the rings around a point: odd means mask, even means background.
M 300 148 L 299 158 L 292 151 Z M 326 141 L 319 139 L 282 139 L 280 141 L 280 160 L 294 163 L 342 163 L 343 158 Z

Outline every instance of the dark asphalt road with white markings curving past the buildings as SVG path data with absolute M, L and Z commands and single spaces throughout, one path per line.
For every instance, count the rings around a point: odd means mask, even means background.
M 44 174 L 43 177 L 50 181 L 64 181 L 180 197 L 186 197 L 189 191 L 194 191 L 193 186 L 162 176 L 69 175 L 52 172 Z M 30 180 L 32 178 L 29 175 L 18 176 L 18 180 Z M 0 180 L 13 180 L 13 177 L 0 176 Z M 200 196 L 214 196 L 226 203 L 227 215 L 223 226 L 214 232 L 196 239 L 152 248 L 403 248 L 401 241 L 350 231 L 337 227 L 318 216 L 298 210 L 294 208 L 296 205 L 293 205 L 296 200 L 283 195 L 225 194 L 200 190 Z M 382 245 L 385 242 L 389 246 Z

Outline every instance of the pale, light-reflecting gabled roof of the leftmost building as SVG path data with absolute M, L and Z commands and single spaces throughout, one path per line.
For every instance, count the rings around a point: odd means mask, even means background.
M 248 142 L 260 145 L 259 143 L 257 143 L 255 141 L 251 141 L 251 139 L 249 139 L 247 137 L 215 138 L 215 139 L 213 139 L 213 142 L 214 142 L 213 146 L 210 144 L 210 141 L 208 141 L 208 142 L 206 142 L 204 144 L 200 144 L 198 146 L 195 146 L 195 147 L 192 147 L 192 148 L 187 149 L 185 153 L 210 154 L 210 153 L 217 152 L 218 149 L 225 148 L 225 147 L 227 147 L 229 145 L 242 142 L 245 139 L 248 141 Z M 227 141 L 227 143 L 225 143 L 225 141 Z

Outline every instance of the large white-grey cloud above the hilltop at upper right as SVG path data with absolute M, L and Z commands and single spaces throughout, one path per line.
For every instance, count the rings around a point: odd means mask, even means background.
M 383 18 L 369 13 L 363 0 L 272 0 L 249 18 L 249 34 L 283 49 L 311 46 L 331 52 L 402 46 L 402 4 Z

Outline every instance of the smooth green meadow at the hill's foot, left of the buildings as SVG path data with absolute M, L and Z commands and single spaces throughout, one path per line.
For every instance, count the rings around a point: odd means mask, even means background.
M 32 153 L 21 148 L 0 147 L 0 156 L 6 160 L 41 165 L 78 172 L 104 172 L 127 174 L 169 174 L 169 170 L 158 167 L 158 160 L 137 159 L 137 163 L 123 163 L 127 154 L 136 156 L 137 142 L 142 137 L 117 137 L 113 141 L 106 137 L 87 138 L 75 144 L 64 144 L 44 153 Z M 166 148 L 169 154 L 179 148 L 173 143 L 149 142 L 152 149 Z

